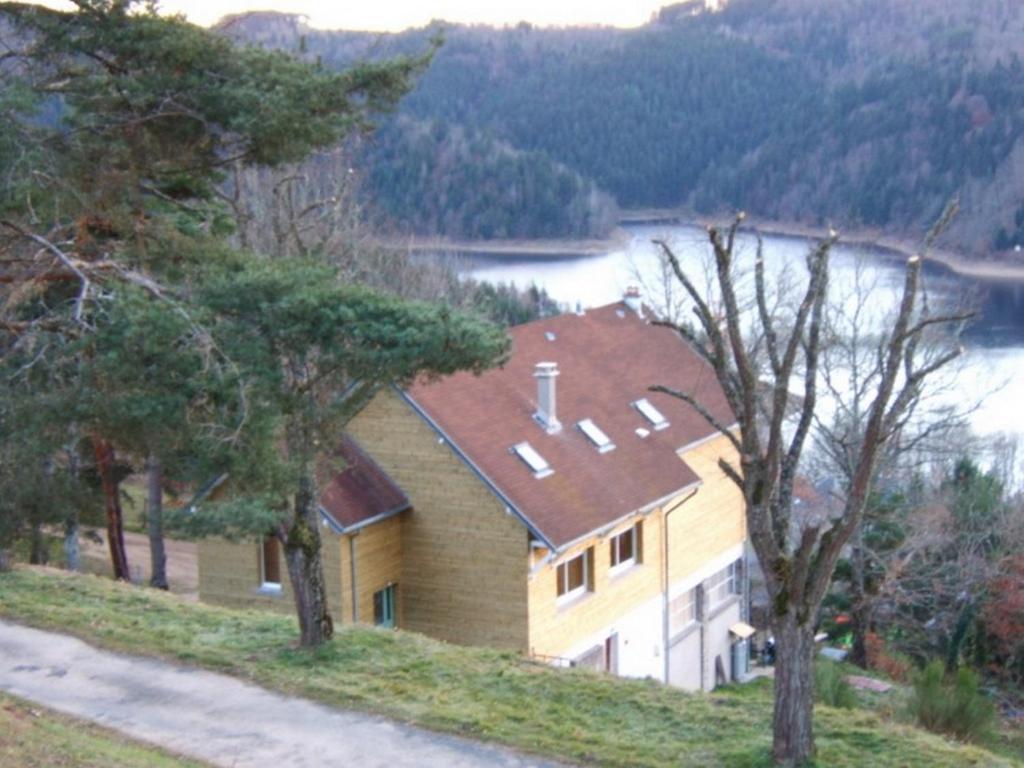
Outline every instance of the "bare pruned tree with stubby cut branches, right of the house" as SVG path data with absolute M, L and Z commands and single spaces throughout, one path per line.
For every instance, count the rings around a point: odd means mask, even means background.
M 757 309 L 751 318 L 741 310 L 736 285 L 734 247 L 742 221 L 740 213 L 725 229 L 708 228 L 722 314 L 712 310 L 708 297 L 695 287 L 671 247 L 658 242 L 694 304 L 697 321 L 695 329 L 671 321 L 666 325 L 714 371 L 735 416 L 735 428 L 716 419 L 690 392 L 664 384 L 651 389 L 692 406 L 731 441 L 738 456 L 738 466 L 722 460 L 721 468 L 743 494 L 749 536 L 770 601 L 770 623 L 778 647 L 773 755 L 779 764 L 795 765 L 814 754 L 814 634 L 836 563 L 860 523 L 884 446 L 901 428 L 925 379 L 954 359 L 958 349 L 928 361 L 919 357 L 923 334 L 950 318 L 930 314 L 920 300 L 923 258 L 912 256 L 907 260 L 895 322 L 881 347 L 880 375 L 865 403 L 864 427 L 852 449 L 854 471 L 846 499 L 828 518 L 798 521 L 794 481 L 818 406 L 828 260 L 838 234 L 830 232 L 808 253 L 807 282 L 799 302 L 781 314 L 772 314 L 759 249 L 754 267 Z M 791 390 L 795 379 L 802 380 L 799 394 Z M 799 524 L 795 527 L 795 523 Z

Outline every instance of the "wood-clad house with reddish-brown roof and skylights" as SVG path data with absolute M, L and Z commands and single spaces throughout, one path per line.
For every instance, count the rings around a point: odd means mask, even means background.
M 501 370 L 379 393 L 323 496 L 335 621 L 711 689 L 745 670 L 742 497 L 714 373 L 636 295 L 511 330 Z M 200 595 L 290 607 L 273 545 L 205 542 Z

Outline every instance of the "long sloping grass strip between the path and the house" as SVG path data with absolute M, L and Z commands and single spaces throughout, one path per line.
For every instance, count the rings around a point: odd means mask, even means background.
M 0 614 L 587 765 L 770 764 L 768 681 L 686 694 L 371 628 L 342 628 L 309 652 L 296 647 L 289 616 L 183 603 L 155 590 L 33 568 L 0 574 Z M 1015 765 L 866 710 L 819 708 L 816 736 L 821 766 Z

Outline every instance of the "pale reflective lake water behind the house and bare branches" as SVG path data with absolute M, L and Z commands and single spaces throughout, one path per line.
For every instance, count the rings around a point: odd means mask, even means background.
M 662 260 L 652 239 L 669 242 L 690 275 L 702 278 L 709 263 L 705 230 L 696 226 L 630 225 L 622 248 L 594 256 L 467 256 L 466 272 L 492 283 L 536 283 L 570 308 L 600 306 L 618 300 L 629 286 L 640 286 L 645 301 L 660 306 L 664 296 Z M 769 236 L 764 239 L 765 264 L 770 275 L 803 275 L 809 241 Z M 753 264 L 756 241 L 741 236 L 737 258 Z M 871 309 L 881 319 L 902 288 L 904 257 L 882 249 L 843 245 L 833 251 L 831 295 L 852 302 L 856 285 L 872 288 Z M 702 288 L 702 283 L 697 282 Z M 981 400 L 972 427 L 983 436 L 997 433 L 1024 436 L 1024 283 L 981 281 L 955 274 L 927 262 L 925 286 L 933 305 L 969 302 L 978 316 L 964 336 L 965 353 L 949 397 Z M 677 289 L 678 295 L 678 289 Z

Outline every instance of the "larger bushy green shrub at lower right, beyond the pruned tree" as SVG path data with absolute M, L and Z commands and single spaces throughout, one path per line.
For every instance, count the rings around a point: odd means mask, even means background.
M 978 676 L 961 667 L 952 676 L 935 660 L 912 676 L 910 714 L 930 731 L 947 733 L 964 741 L 988 735 L 995 720 L 995 706 L 979 688 Z

